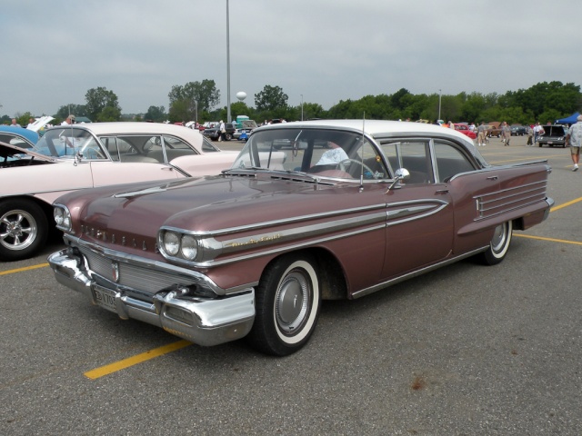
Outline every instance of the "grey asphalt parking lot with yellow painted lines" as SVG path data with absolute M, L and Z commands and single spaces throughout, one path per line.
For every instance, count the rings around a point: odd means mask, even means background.
M 470 261 L 324 302 L 306 348 L 203 348 L 89 305 L 46 255 L 0 263 L 0 433 L 582 433 L 582 171 L 514 137 L 490 163 L 547 159 L 545 223 Z M 241 143 L 218 144 L 240 149 Z

